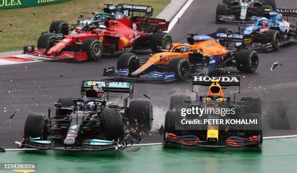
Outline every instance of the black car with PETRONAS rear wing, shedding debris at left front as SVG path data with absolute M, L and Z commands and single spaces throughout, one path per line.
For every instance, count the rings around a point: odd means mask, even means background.
M 133 100 L 128 106 L 132 83 L 83 81 L 81 91 L 81 97 L 60 98 L 47 116 L 28 115 L 24 136 L 15 143 L 21 148 L 119 151 L 128 143 L 141 141 L 138 132 L 151 129 L 151 103 Z M 118 93 L 129 94 L 123 106 L 109 101 L 110 97 L 122 98 Z

